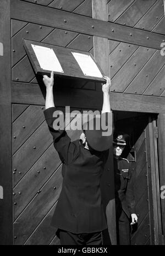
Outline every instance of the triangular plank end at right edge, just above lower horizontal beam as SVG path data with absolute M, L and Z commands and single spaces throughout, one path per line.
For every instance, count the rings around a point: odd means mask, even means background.
M 160 96 L 165 89 L 165 66 L 156 75 L 149 87 L 144 92 L 144 95 Z

